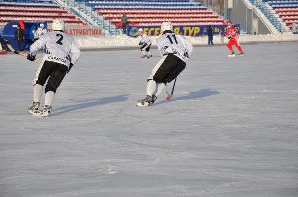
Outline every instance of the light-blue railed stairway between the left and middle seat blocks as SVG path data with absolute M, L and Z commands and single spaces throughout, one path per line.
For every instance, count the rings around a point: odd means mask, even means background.
M 58 0 L 54 0 L 58 3 Z M 113 24 L 105 20 L 102 16 L 99 16 L 97 11 L 94 11 L 91 7 L 87 6 L 84 2 L 76 2 L 75 0 L 60 0 L 64 3 L 64 7 L 70 7 L 72 12 L 78 15 L 80 18 L 87 21 L 90 25 L 101 26 L 108 32 L 108 35 L 104 33 L 104 36 L 113 36 L 121 34 Z M 59 4 L 59 3 L 58 3 Z M 77 8 L 77 9 L 75 9 Z M 90 21 L 90 19 L 92 21 Z

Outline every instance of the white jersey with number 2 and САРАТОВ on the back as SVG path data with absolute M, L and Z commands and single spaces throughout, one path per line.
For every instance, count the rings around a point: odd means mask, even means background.
M 30 53 L 36 55 L 39 49 L 46 47 L 43 60 L 53 61 L 70 66 L 80 58 L 81 52 L 74 38 L 61 31 L 53 31 L 42 35 L 30 47 Z M 71 57 L 72 53 L 72 57 Z

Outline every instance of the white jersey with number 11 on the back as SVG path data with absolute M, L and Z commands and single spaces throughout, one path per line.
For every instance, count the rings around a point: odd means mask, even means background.
M 161 56 L 173 53 L 185 63 L 194 51 L 193 46 L 183 36 L 174 33 L 161 35 L 156 44 Z

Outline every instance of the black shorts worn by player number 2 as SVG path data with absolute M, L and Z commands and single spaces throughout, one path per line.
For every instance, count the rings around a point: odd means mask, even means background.
M 50 77 L 45 88 L 45 93 L 49 91 L 53 91 L 54 93 L 56 93 L 57 88 L 63 81 L 67 71 L 68 67 L 64 64 L 52 61 L 45 61 L 38 68 L 36 77 L 34 79 L 34 85 L 39 84 L 43 86 L 46 83 L 47 79 Z

